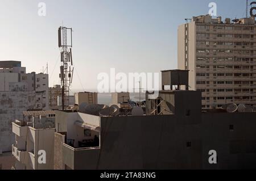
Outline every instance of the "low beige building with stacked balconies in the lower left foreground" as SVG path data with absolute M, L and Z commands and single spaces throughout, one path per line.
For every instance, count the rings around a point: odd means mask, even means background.
M 22 121 L 12 123 L 15 134 L 13 169 L 53 170 L 55 112 L 24 111 L 23 117 Z M 46 163 L 38 162 L 40 150 L 46 151 Z

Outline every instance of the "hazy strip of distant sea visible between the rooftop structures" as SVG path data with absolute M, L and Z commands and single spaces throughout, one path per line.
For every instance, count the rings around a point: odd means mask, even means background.
M 95 90 L 86 90 L 88 92 L 97 92 Z M 71 90 L 71 94 L 75 92 L 84 92 L 83 90 Z M 111 93 L 98 93 L 98 104 L 106 104 L 109 105 L 111 103 Z M 130 93 L 130 99 L 133 101 L 139 101 L 139 93 Z M 141 101 L 146 99 L 146 94 L 141 93 Z

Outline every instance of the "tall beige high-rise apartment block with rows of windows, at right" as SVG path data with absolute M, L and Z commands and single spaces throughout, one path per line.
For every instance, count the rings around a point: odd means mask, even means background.
M 189 70 L 189 90 L 202 92 L 203 108 L 256 104 L 254 18 L 193 17 L 178 28 L 178 68 Z

